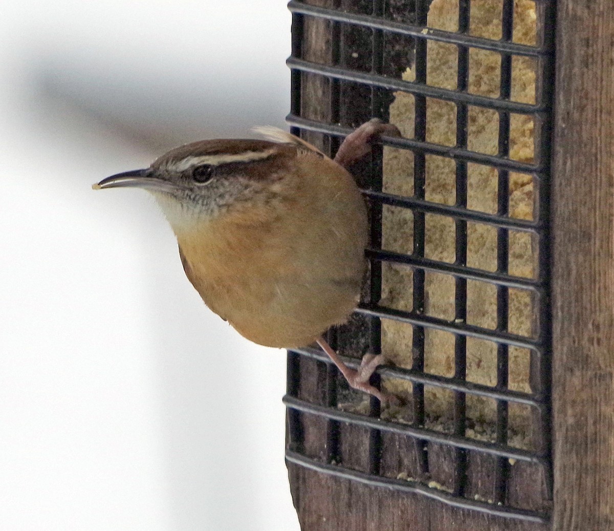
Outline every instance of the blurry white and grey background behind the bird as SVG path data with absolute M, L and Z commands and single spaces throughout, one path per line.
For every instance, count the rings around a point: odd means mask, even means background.
M 284 127 L 286 0 L 2 0 L 0 529 L 298 530 L 285 355 L 184 277 L 175 144 Z

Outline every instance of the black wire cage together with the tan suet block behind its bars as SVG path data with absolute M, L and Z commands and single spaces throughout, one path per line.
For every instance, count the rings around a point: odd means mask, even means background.
M 454 27 L 438 25 L 433 15 L 446 4 Z M 371 117 L 411 122 L 402 138 L 383 138 L 385 147 L 354 168 L 370 211 L 368 275 L 351 321 L 328 332 L 350 366 L 367 352 L 405 360 L 380 368 L 374 379 L 405 392 L 407 406 L 395 412 L 375 399 L 361 403 L 324 353 L 290 351 L 284 401 L 286 459 L 294 470 L 510 521 L 550 521 L 554 8 L 553 0 L 289 3 L 287 121 L 295 135 L 334 155 L 341 138 Z M 518 29 L 527 16 L 529 38 Z M 492 34 L 479 26 L 484 20 Z M 454 67 L 442 68 L 449 57 Z M 484 57 L 491 66 L 480 71 Z M 487 72 L 494 89 L 484 89 L 476 72 L 482 79 Z M 527 85 L 523 73 L 534 76 L 526 98 L 515 89 Z M 402 98 L 409 106 L 395 108 Z M 443 112 L 437 109 L 447 109 L 440 129 L 449 141 L 433 133 Z M 518 155 L 519 128 L 529 130 L 526 156 Z M 476 142 L 479 134 L 492 149 Z M 396 181 L 387 180 L 386 157 L 400 161 L 388 164 Z M 447 181 L 435 189 L 442 172 Z M 518 183 L 526 215 L 514 204 Z M 480 194 L 487 199 L 478 201 Z M 480 230 L 485 240 L 476 236 Z M 433 240 L 447 250 L 432 251 Z M 518 242 L 530 262 L 524 270 L 515 262 Z M 486 261 L 473 256 L 486 248 Z M 391 293 L 404 286 L 406 296 L 395 300 Z M 447 297 L 446 311 L 437 309 L 438 297 Z M 523 326 L 514 312 L 523 314 Z M 476 376 L 481 365 L 486 376 Z M 476 401 L 487 405 L 480 409 Z M 294 495 L 296 504 L 297 489 Z

